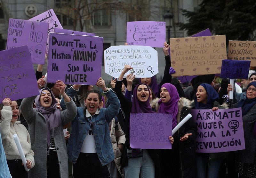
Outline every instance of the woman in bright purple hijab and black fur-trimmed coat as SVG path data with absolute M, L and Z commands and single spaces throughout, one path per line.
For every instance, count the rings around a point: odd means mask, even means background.
M 165 83 L 160 89 L 160 99 L 154 99 L 151 106 L 156 108 L 158 113 L 173 114 L 172 128 L 174 128 L 190 113 L 191 101 L 180 98 L 176 87 Z M 196 176 L 196 131 L 194 121 L 189 119 L 178 132 L 169 137 L 172 149 L 162 149 L 161 152 L 162 177 L 193 178 Z

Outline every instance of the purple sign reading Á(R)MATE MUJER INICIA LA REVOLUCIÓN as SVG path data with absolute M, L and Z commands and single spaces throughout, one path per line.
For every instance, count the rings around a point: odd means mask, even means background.
M 197 127 L 196 152 L 219 153 L 244 150 L 241 108 L 191 110 Z

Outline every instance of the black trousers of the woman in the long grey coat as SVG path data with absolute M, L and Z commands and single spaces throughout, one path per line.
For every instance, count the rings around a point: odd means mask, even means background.
M 47 155 L 47 178 L 59 178 L 60 177 L 60 166 L 56 151 L 50 150 L 50 155 Z

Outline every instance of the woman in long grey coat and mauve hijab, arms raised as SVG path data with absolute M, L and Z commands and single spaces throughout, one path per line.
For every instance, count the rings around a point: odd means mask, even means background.
M 43 84 L 43 79 L 37 81 Z M 57 81 L 67 109 L 60 111 L 48 88 L 40 89 L 38 96 L 23 99 L 21 112 L 28 123 L 35 167 L 28 172 L 31 178 L 68 178 L 68 156 L 62 125 L 76 117 L 76 104 L 65 93 L 65 84 Z M 33 108 L 35 101 L 36 108 Z

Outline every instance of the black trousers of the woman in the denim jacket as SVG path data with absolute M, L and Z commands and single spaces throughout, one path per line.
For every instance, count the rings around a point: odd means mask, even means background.
M 109 178 L 108 166 L 102 166 L 97 153 L 80 153 L 73 164 L 73 178 Z

